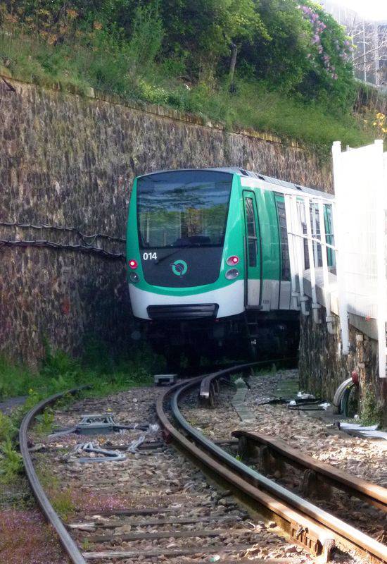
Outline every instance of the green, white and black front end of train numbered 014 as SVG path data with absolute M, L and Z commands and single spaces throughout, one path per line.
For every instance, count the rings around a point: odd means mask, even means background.
M 159 327 L 166 322 L 181 338 L 195 321 L 201 328 L 208 322 L 209 336 L 220 335 L 215 321 L 243 312 L 239 192 L 237 175 L 215 170 L 158 172 L 134 181 L 127 224 L 134 317 Z

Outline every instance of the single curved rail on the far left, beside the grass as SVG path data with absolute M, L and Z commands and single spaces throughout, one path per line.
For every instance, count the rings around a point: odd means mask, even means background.
M 75 544 L 75 541 L 73 541 L 70 537 L 70 534 L 68 534 L 68 531 L 63 525 L 61 518 L 53 509 L 49 498 L 44 493 L 44 489 L 42 488 L 42 484 L 39 482 L 39 478 L 37 477 L 37 473 L 35 472 L 34 465 L 32 463 L 30 450 L 28 450 L 27 432 L 30 428 L 30 424 L 34 420 L 34 417 L 36 417 L 36 415 L 42 412 L 46 407 L 48 407 L 52 403 L 55 403 L 56 400 L 63 398 L 63 396 L 67 394 L 74 395 L 75 393 L 82 391 L 88 387 L 89 386 L 73 388 L 72 390 L 56 393 L 54 396 L 50 396 L 49 398 L 42 400 L 37 405 L 32 407 L 32 410 L 26 413 L 19 429 L 20 453 L 23 457 L 23 465 L 25 467 L 25 474 L 27 475 L 28 482 L 30 482 L 34 497 L 37 500 L 42 513 L 46 517 L 46 520 L 52 525 L 53 529 L 56 530 L 59 540 L 61 541 L 61 544 L 65 549 L 65 552 L 68 554 L 72 564 L 86 564 L 86 560 L 84 560 L 84 557 Z

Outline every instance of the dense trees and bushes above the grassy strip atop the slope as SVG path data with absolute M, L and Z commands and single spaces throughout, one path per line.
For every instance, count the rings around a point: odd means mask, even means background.
M 2 15 L 48 44 L 124 52 L 132 72 L 157 57 L 191 81 L 220 78 L 235 49 L 246 78 L 309 99 L 336 82 L 330 98 L 340 104 L 353 93 L 349 39 L 309 0 L 9 0 Z

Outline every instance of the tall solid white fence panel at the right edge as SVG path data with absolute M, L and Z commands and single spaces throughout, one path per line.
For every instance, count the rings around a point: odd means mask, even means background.
M 386 377 L 387 154 L 383 154 L 381 140 L 345 152 L 341 151 L 340 142 L 335 142 L 333 157 L 334 232 L 343 353 L 348 353 L 348 313 L 376 319 L 379 375 Z

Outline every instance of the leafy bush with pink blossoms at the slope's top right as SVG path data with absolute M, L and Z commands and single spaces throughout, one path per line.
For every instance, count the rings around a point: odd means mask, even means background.
M 241 47 L 246 75 L 302 102 L 348 111 L 355 94 L 353 47 L 343 27 L 310 0 L 260 0 L 258 9 L 269 38 L 257 32 Z

